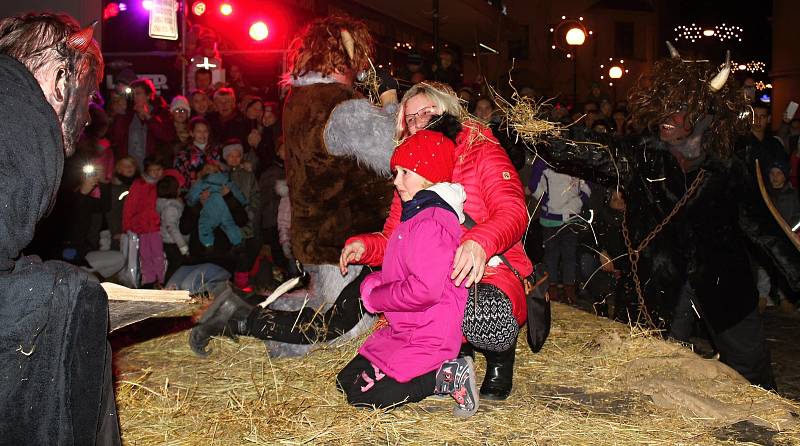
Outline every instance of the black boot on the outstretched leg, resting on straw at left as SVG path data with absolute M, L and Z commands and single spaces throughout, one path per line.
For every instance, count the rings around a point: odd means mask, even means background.
M 236 339 L 246 331 L 247 318 L 255 307 L 226 288 L 208 307 L 200 322 L 192 328 L 189 346 L 198 356 L 208 356 L 206 350 L 212 336 L 227 335 Z

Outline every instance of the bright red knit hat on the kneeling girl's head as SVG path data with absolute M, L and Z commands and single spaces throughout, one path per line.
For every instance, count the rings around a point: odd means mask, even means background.
M 452 181 L 456 146 L 433 130 L 420 130 L 394 149 L 390 166 L 412 170 L 431 183 Z

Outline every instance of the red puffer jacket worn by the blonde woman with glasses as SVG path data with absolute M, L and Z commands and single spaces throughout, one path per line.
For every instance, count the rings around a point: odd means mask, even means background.
M 464 231 L 461 241 L 473 240 L 486 251 L 486 258 L 504 254 L 524 277 L 533 272 L 533 265 L 522 248 L 522 236 L 528 225 L 528 210 L 519 175 L 492 131 L 475 122 L 465 123 L 456 138 L 456 165 L 453 183 L 460 183 L 467 193 L 464 212 L 478 224 Z M 401 203 L 395 192 L 383 232 L 361 234 L 346 243 L 360 240 L 366 250 L 361 263 L 378 266 L 383 262 L 386 243 L 400 223 Z M 494 285 L 510 299 L 514 317 L 525 323 L 527 308 L 522 284 L 504 264 L 486 267 L 481 283 Z

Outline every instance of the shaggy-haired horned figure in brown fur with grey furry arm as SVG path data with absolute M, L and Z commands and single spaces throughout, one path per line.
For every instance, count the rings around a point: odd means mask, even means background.
M 283 111 L 291 247 L 310 283 L 268 310 L 221 295 L 192 330 L 196 353 L 207 354 L 210 337 L 225 333 L 264 339 L 273 356 L 296 356 L 372 326 L 358 294 L 366 271 L 352 266 L 343 277 L 338 267 L 345 240 L 379 231 L 392 199 L 386 174 L 397 107 L 356 99 L 351 86 L 355 73 L 369 66 L 371 51 L 366 26 L 344 17 L 316 20 L 292 41 Z M 351 139 L 359 144 L 348 144 Z

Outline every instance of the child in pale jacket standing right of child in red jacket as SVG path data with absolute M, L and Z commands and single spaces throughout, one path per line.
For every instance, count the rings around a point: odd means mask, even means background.
M 156 187 L 158 193 L 156 209 L 161 217 L 161 241 L 167 257 L 165 274 L 167 280 L 181 266 L 183 257 L 189 255 L 189 244 L 180 231 L 181 215 L 183 215 L 183 200 L 180 198 L 182 182 L 183 176 L 178 171 L 167 169 Z

